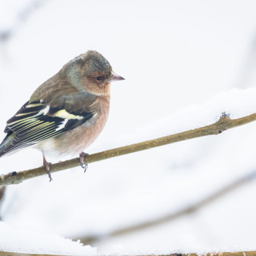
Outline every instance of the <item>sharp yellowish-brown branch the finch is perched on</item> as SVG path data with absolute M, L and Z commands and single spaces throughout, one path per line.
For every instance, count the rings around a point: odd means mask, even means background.
M 167 145 L 175 142 L 185 141 L 185 140 L 207 136 L 207 135 L 218 135 L 227 129 L 231 129 L 236 126 L 240 126 L 254 120 L 256 120 L 256 113 L 253 113 L 244 117 L 240 117 L 237 119 L 230 119 L 229 115 L 222 113 L 219 120 L 210 125 L 206 125 L 194 130 L 189 130 L 189 131 L 174 134 L 174 135 L 157 138 L 150 141 L 136 143 L 136 144 L 88 155 L 84 157 L 84 162 L 87 164 L 90 164 L 90 163 L 105 160 L 108 158 L 118 157 L 121 155 L 126 155 L 126 154 L 134 153 L 137 151 L 151 149 L 151 148 L 155 148 L 155 147 L 159 147 L 159 146 L 163 146 L 163 145 Z M 71 160 L 67 160 L 65 162 L 59 162 L 51 165 L 50 172 L 54 173 L 54 172 L 62 171 L 65 169 L 74 168 L 77 166 L 79 166 L 79 158 L 74 158 Z M 0 186 L 10 185 L 10 184 L 19 184 L 24 180 L 28 180 L 34 177 L 45 175 L 45 174 L 46 172 L 44 167 L 21 171 L 18 173 L 12 172 L 9 174 L 3 174 L 3 175 L 0 175 Z

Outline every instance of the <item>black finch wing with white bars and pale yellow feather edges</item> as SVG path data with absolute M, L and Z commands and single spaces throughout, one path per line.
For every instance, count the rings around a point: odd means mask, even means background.
M 93 116 L 90 111 L 70 111 L 64 106 L 52 107 L 40 101 L 26 102 L 7 121 L 4 131 L 7 136 L 0 145 L 0 157 L 63 134 Z

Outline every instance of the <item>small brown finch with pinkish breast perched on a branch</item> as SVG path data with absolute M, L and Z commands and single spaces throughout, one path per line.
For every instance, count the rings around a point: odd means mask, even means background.
M 124 80 L 113 72 L 100 53 L 89 50 L 41 84 L 30 99 L 7 121 L 0 157 L 27 147 L 42 152 L 43 166 L 52 180 L 45 155 L 78 155 L 86 170 L 84 153 L 107 121 L 110 84 Z

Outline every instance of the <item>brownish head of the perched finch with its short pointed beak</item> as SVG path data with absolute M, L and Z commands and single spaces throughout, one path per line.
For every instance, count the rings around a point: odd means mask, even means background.
M 108 61 L 96 51 L 88 51 L 74 58 L 68 75 L 72 83 L 96 95 L 109 93 L 110 82 L 124 80 L 112 71 Z

